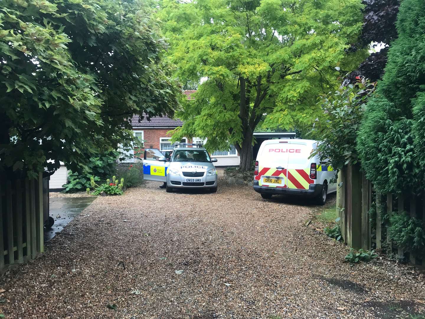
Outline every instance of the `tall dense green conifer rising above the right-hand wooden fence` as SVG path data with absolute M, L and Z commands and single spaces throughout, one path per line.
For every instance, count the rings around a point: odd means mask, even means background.
M 417 193 L 425 183 L 425 7 L 399 7 L 383 80 L 366 107 L 357 150 L 366 177 L 382 194 Z

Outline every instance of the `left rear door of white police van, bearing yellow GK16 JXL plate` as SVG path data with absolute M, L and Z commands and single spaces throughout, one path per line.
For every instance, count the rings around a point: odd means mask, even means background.
M 267 187 L 286 188 L 286 168 L 288 167 L 288 141 L 275 140 L 260 148 L 257 155 L 258 185 Z

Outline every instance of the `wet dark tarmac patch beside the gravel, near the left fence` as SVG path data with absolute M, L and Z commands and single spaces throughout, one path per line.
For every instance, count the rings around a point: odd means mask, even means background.
M 74 219 L 96 197 L 53 197 L 49 200 L 49 215 L 54 219 L 54 225 L 45 229 L 44 241 L 52 239 Z

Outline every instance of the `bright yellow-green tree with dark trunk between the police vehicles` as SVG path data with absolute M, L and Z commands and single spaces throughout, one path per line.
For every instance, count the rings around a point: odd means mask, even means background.
M 328 78 L 336 63 L 355 68 L 365 57 L 362 50 L 349 58 L 345 52 L 362 26 L 360 0 L 164 0 L 161 6 L 169 59 L 182 83 L 199 83 L 195 100 L 177 114 L 184 125 L 173 138 L 207 138 L 210 150 L 234 144 L 242 170 L 252 165 L 252 133 L 264 114 L 271 114 L 267 127 L 311 126 L 319 92 L 334 85 Z

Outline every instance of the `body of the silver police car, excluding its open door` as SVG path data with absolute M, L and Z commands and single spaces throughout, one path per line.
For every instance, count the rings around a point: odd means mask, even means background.
M 160 159 L 161 160 L 161 159 Z M 173 188 L 209 188 L 217 191 L 217 170 L 203 147 L 176 147 L 170 157 L 167 171 L 167 192 Z

